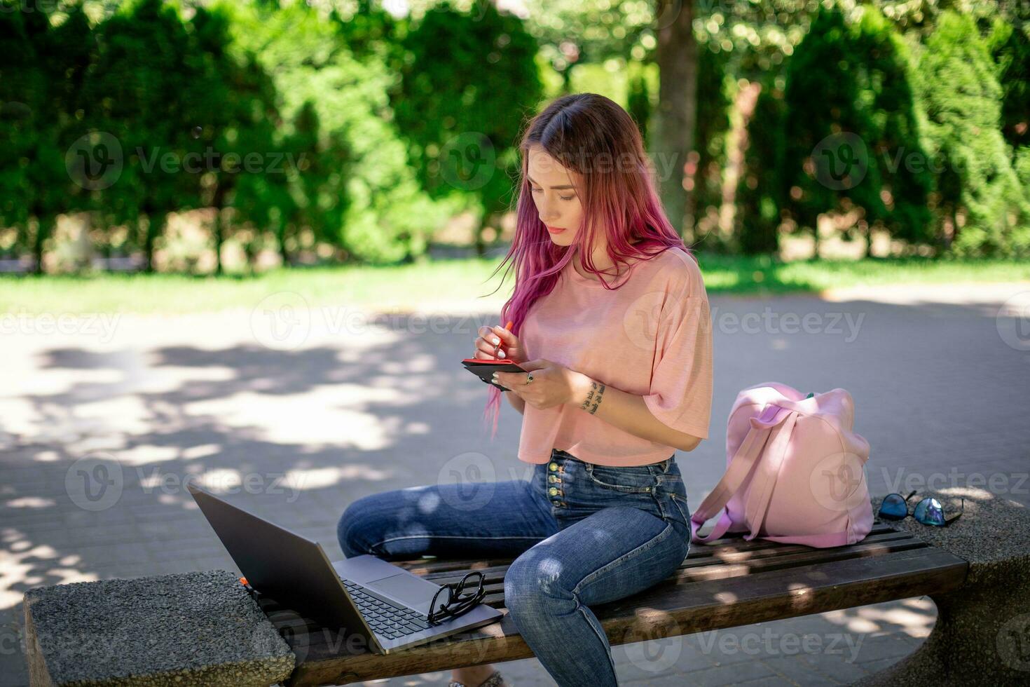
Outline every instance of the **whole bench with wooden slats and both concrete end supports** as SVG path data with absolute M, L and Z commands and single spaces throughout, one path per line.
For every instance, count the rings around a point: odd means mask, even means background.
M 926 594 L 937 606 L 930 637 L 859 685 L 1028 684 L 1030 509 L 984 490 L 950 491 L 924 491 L 948 512 L 965 496 L 965 515 L 950 527 L 877 523 L 862 542 L 831 549 L 728 537 L 691 547 L 660 584 L 592 610 L 620 645 Z M 503 611 L 510 562 L 394 564 L 439 583 L 481 571 L 485 603 Z M 345 684 L 533 656 L 507 615 L 370 654 L 273 599 L 251 597 L 230 571 L 50 585 L 25 596 L 33 685 Z

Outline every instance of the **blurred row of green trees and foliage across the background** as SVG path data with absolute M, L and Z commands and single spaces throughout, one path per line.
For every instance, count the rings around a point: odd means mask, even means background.
M 0 3 L 0 257 L 36 269 L 78 212 L 97 252 L 148 267 L 190 210 L 219 257 L 413 262 L 465 211 L 482 252 L 544 101 L 602 93 L 647 140 L 671 21 L 641 0 L 527 0 L 524 18 L 487 0 Z M 937 254 L 1030 254 L 1028 3 L 694 9 L 689 213 L 720 229 L 699 248 L 777 253 L 851 213 L 844 236 L 867 246 L 879 228 Z M 842 184 L 849 142 L 864 162 Z

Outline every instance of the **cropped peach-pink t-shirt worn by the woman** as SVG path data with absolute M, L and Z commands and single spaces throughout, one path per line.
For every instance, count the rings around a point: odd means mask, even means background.
M 625 269 L 620 266 L 621 269 Z M 608 290 L 595 278 L 562 270 L 554 290 L 529 308 L 519 332 L 527 359 L 546 358 L 607 386 L 644 397 L 668 426 L 708 439 L 712 411 L 712 325 L 708 294 L 682 248 L 632 265 Z M 547 462 L 552 448 L 602 466 L 646 466 L 676 448 L 641 439 L 578 405 L 539 410 L 526 404 L 518 457 Z

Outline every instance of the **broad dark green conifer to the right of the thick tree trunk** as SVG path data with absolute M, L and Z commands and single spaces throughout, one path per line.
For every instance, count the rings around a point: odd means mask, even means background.
M 777 197 L 816 239 L 818 217 L 857 208 L 870 254 L 883 227 L 928 241 L 932 185 L 923 150 L 912 60 L 904 41 L 874 7 L 848 23 L 822 10 L 787 66 L 783 188 Z M 913 162 L 915 161 L 915 163 Z

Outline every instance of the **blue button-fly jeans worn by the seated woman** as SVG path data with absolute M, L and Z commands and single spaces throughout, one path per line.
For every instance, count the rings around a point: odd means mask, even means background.
M 529 480 L 430 484 L 364 496 L 337 525 L 347 557 L 514 558 L 505 605 L 559 687 L 617 685 L 591 606 L 671 577 L 690 549 L 675 454 L 610 468 L 554 449 Z

